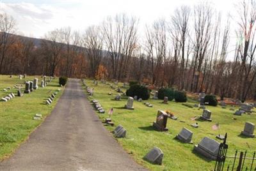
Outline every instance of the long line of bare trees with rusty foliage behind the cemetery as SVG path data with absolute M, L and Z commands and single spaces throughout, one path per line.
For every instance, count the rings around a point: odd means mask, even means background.
M 3 13 L 0 72 L 138 80 L 256 100 L 256 2 L 243 1 L 236 10 L 234 19 L 223 19 L 209 4 L 181 6 L 170 19 L 156 20 L 140 34 L 139 20 L 120 14 L 84 33 L 70 27 L 55 29 L 37 47 L 12 36 L 15 20 Z M 235 20 L 234 33 L 230 20 Z M 237 42 L 236 47 L 230 40 Z

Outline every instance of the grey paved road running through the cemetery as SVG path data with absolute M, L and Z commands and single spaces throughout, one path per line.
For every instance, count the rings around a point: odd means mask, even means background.
M 70 79 L 58 104 L 0 170 L 145 170 L 112 137 Z

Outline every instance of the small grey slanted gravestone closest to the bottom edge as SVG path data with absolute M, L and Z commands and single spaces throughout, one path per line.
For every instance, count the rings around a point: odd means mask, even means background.
M 144 160 L 149 161 L 150 163 L 162 165 L 164 153 L 158 147 L 154 147 L 151 149 L 146 156 L 144 156 Z

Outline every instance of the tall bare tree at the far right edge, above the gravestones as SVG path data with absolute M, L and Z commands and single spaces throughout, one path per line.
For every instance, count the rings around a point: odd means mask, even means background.
M 239 57 L 241 58 L 239 98 L 246 100 L 248 91 L 255 79 L 256 72 L 253 71 L 255 63 L 255 20 L 256 20 L 256 2 L 243 1 L 237 6 L 240 20 L 238 22 L 239 29 L 237 31 L 242 41 L 238 47 Z

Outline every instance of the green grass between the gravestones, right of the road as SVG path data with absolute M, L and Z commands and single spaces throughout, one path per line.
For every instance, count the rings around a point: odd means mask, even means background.
M 212 122 L 208 121 L 192 121 L 190 118 L 195 115 L 202 115 L 203 110 L 198 108 L 189 108 L 182 105 L 182 103 L 176 103 L 175 101 L 169 101 L 169 104 L 161 103 L 163 100 L 145 100 L 154 107 L 146 107 L 143 102 L 134 101 L 134 110 L 124 109 L 124 105 L 127 103 L 127 97 L 122 96 L 121 101 L 112 100 L 116 96 L 116 91 L 111 89 L 109 85 L 99 82 L 98 85 L 93 84 L 92 80 L 85 80 L 86 85 L 94 88 L 92 97 L 88 97 L 89 100 L 96 99 L 100 102 L 105 109 L 106 114 L 98 114 L 100 119 L 108 117 L 108 110 L 113 107 L 114 112 L 111 116 L 115 126 L 106 126 L 109 131 L 113 131 L 118 124 L 122 124 L 127 130 L 126 138 L 116 139 L 124 149 L 131 154 L 132 158 L 138 163 L 150 170 L 213 170 L 215 161 L 206 160 L 203 156 L 195 154 L 193 152 L 193 146 L 198 144 L 204 137 L 214 138 L 219 133 L 224 135 L 228 133 L 227 144 L 228 155 L 234 156 L 236 149 L 248 150 L 248 155 L 252 156 L 252 152 L 256 150 L 256 138 L 240 137 L 239 134 L 244 128 L 244 123 L 250 121 L 256 124 L 256 114 L 252 115 L 243 114 L 242 116 L 233 115 L 235 111 L 218 107 L 209 107 L 211 110 Z M 113 82 L 111 82 L 113 84 Z M 115 85 L 115 84 L 113 84 Z M 118 84 L 120 87 L 122 84 Z M 121 88 L 125 91 L 124 88 Z M 84 90 L 86 91 L 86 90 Z M 112 95 L 108 95 L 111 92 Z M 191 99 L 188 100 L 188 104 L 194 105 L 198 103 Z M 237 109 L 238 107 L 236 107 Z M 156 121 L 157 110 L 169 110 L 174 113 L 179 119 L 174 121 L 168 119 L 167 127 L 169 131 L 159 132 L 152 128 L 152 123 Z M 237 120 L 232 119 L 236 117 Z M 184 121 L 182 123 L 180 121 Z M 192 128 L 190 124 L 198 123 L 199 128 Z M 212 130 L 212 125 L 215 123 L 220 124 L 219 130 Z M 180 130 L 186 127 L 193 131 L 192 140 L 194 144 L 183 144 L 175 139 Z M 163 165 L 152 165 L 143 160 L 143 156 L 152 149 L 152 147 L 159 147 L 164 152 Z M 226 164 L 232 164 L 233 160 L 227 160 Z M 256 163 L 254 162 L 256 167 Z M 254 168 L 254 167 L 253 167 Z

